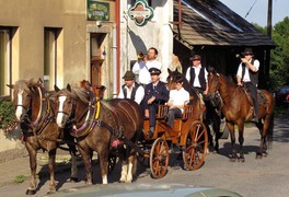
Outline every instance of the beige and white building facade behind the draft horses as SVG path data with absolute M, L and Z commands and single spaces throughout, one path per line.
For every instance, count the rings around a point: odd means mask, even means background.
M 113 97 L 137 53 L 151 46 L 166 66 L 173 51 L 173 1 L 146 1 L 153 14 L 144 25 L 128 14 L 137 2 L 0 0 L 0 95 L 11 95 L 8 83 L 41 78 L 48 90 L 89 80 L 105 85 L 105 97 Z

